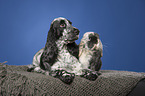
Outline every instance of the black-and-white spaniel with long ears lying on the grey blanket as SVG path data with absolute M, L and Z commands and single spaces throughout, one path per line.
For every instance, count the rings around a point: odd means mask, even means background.
M 66 84 L 71 84 L 75 75 L 96 80 L 98 73 L 83 69 L 79 61 L 79 45 L 75 43 L 79 33 L 80 31 L 66 18 L 54 19 L 48 31 L 45 47 L 35 54 L 28 71 L 51 75 Z

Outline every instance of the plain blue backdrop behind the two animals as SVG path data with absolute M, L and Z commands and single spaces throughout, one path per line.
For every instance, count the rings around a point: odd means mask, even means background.
M 0 0 L 0 62 L 31 64 L 60 16 L 100 35 L 103 70 L 145 72 L 145 0 Z

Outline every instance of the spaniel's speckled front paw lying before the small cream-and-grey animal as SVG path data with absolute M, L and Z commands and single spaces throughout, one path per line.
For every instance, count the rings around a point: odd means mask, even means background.
M 98 73 L 96 71 L 85 69 L 85 70 L 83 70 L 83 74 L 80 76 L 83 78 L 86 78 L 88 80 L 95 81 L 99 75 L 100 75 L 100 73 Z

